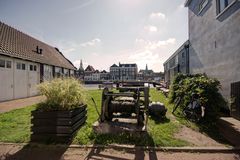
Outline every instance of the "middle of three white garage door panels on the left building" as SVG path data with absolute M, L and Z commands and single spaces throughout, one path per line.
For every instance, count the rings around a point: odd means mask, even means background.
M 14 98 L 28 97 L 28 65 L 26 61 L 15 60 Z

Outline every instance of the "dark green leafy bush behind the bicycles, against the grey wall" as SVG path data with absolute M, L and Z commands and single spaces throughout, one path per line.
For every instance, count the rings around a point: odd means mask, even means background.
M 170 87 L 169 100 L 173 103 L 177 97 L 182 97 L 180 107 L 183 108 L 191 101 L 192 94 L 197 94 L 201 105 L 206 107 L 206 118 L 213 119 L 216 118 L 219 109 L 227 105 L 219 93 L 220 89 L 220 82 L 205 74 L 178 74 Z

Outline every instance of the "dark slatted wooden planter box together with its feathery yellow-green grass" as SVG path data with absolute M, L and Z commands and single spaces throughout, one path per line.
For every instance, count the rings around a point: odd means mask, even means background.
M 32 141 L 69 141 L 86 121 L 86 95 L 74 78 L 54 79 L 38 86 L 46 97 L 32 112 Z

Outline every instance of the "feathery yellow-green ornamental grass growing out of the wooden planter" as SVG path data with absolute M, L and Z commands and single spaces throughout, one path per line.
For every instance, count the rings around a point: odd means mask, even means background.
M 38 85 L 41 95 L 46 97 L 38 105 L 41 110 L 70 110 L 86 102 L 84 87 L 74 78 L 57 78 Z

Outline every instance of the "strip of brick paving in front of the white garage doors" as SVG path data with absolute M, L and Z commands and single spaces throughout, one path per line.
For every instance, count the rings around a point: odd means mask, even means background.
M 26 106 L 31 106 L 43 100 L 44 100 L 44 97 L 36 96 L 36 97 L 0 102 L 0 113 L 9 112 L 11 110 L 18 109 L 18 108 L 24 108 Z

